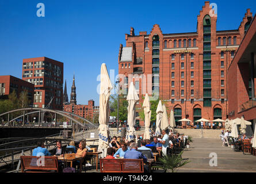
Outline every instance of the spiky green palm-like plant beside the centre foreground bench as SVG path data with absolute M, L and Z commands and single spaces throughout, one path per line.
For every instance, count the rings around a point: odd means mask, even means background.
M 188 160 L 184 160 L 181 158 L 183 151 L 181 151 L 178 155 L 165 155 L 162 158 L 158 158 L 158 161 L 161 163 L 156 168 L 162 168 L 163 170 L 171 171 L 171 173 L 176 173 L 179 167 L 184 166 L 185 164 L 191 162 Z

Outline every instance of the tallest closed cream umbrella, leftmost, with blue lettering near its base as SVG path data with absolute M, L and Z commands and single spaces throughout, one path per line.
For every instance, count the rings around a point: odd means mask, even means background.
M 109 96 L 113 89 L 106 64 L 101 64 L 101 89 L 100 89 L 100 114 L 99 114 L 99 145 L 98 150 L 106 156 L 106 148 L 109 147 Z

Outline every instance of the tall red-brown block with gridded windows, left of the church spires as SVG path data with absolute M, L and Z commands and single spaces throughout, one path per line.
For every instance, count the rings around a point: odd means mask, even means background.
M 63 63 L 48 57 L 23 59 L 22 79 L 35 85 L 34 107 L 62 110 Z

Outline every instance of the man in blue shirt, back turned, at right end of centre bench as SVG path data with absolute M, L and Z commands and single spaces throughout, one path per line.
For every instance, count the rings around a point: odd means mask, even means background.
M 127 151 L 124 154 L 125 159 L 143 159 L 143 162 L 147 163 L 146 156 L 144 156 L 142 152 L 137 151 L 137 143 L 132 143 L 131 148 L 132 148 L 131 150 Z M 145 173 L 148 172 L 149 171 L 148 165 L 144 164 L 143 166 L 144 166 L 144 172 Z

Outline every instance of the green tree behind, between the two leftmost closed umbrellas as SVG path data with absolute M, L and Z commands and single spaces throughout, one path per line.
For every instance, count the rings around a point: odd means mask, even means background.
M 110 95 L 109 106 L 110 106 L 110 116 L 117 117 L 117 94 Z M 119 120 L 124 121 L 127 120 L 128 115 L 128 101 L 123 98 L 123 95 L 119 96 Z

